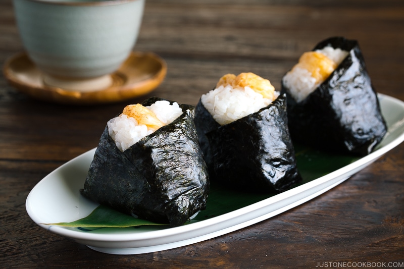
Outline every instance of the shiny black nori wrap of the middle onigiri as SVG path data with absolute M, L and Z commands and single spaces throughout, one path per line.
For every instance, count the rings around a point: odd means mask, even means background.
M 287 127 L 286 97 L 226 125 L 199 100 L 195 125 L 211 181 L 251 192 L 281 192 L 301 180 Z

